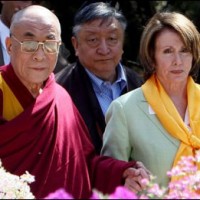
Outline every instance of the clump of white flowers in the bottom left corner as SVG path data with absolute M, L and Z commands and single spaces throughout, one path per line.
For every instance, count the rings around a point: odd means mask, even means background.
M 0 199 L 34 199 L 28 185 L 33 181 L 28 172 L 22 176 L 7 172 L 0 161 Z

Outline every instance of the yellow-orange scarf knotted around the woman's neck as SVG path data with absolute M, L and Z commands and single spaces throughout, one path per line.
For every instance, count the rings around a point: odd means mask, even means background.
M 155 75 L 142 85 L 142 91 L 163 127 L 181 141 L 173 166 L 177 165 L 181 156 L 194 156 L 195 150 L 200 148 L 200 85 L 196 84 L 192 77 L 188 78 L 187 98 L 191 131 Z

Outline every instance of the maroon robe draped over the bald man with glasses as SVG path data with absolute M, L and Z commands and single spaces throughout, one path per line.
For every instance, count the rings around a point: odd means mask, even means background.
M 5 169 L 16 175 L 25 171 L 34 175 L 31 191 L 36 198 L 58 188 L 75 198 L 89 198 L 92 188 L 111 193 L 122 184 L 123 171 L 134 163 L 95 155 L 80 114 L 54 74 L 34 99 L 12 66 L 2 70 L 24 108 L 15 119 L 0 123 L 0 159 Z

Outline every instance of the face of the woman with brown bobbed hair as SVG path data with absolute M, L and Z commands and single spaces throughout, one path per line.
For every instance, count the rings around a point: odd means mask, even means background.
M 184 45 L 180 35 L 171 30 L 163 30 L 155 40 L 155 70 L 164 84 L 183 83 L 192 67 L 192 53 Z

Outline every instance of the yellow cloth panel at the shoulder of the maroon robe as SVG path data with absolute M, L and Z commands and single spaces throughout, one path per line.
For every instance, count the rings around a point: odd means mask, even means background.
M 3 118 L 12 120 L 23 111 L 23 107 L 10 90 L 9 86 L 0 74 L 0 90 L 3 92 Z

